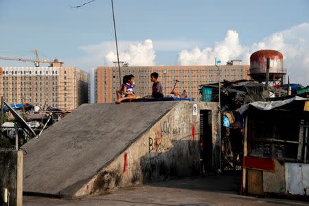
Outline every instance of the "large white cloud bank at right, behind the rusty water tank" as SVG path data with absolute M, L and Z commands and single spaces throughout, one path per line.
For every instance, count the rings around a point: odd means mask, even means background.
M 284 56 L 284 67 L 288 69 L 291 82 L 309 84 L 309 23 L 303 23 L 288 30 L 277 32 L 251 46 L 240 45 L 238 33 L 229 30 L 222 41 L 214 47 L 179 52 L 179 65 L 214 65 L 216 57 L 222 62 L 243 60 L 249 64 L 250 55 L 260 49 L 275 49 Z

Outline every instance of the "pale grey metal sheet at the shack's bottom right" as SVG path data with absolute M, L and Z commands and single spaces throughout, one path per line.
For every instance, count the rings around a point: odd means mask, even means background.
M 309 194 L 309 164 L 285 163 L 286 167 L 286 192 L 288 194 Z

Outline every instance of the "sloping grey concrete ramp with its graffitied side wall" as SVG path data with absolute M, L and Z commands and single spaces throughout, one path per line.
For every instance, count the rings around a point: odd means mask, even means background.
M 199 137 L 192 133 L 199 119 L 192 116 L 192 104 L 83 104 L 23 146 L 23 191 L 78 197 L 192 174 L 199 159 Z M 175 158 L 193 167 L 181 172 L 169 160 Z

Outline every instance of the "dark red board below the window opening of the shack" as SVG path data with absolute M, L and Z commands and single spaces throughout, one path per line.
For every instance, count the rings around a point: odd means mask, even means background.
M 275 171 L 275 162 L 267 158 L 246 157 L 244 165 L 246 168 Z

